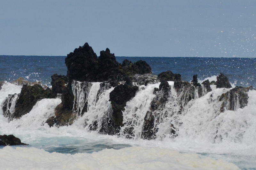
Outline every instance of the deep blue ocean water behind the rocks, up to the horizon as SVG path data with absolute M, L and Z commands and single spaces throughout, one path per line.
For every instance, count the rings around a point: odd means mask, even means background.
M 24 77 L 28 81 L 42 81 L 50 85 L 52 74 L 67 74 L 66 56 L 0 56 L 0 81 L 13 81 Z M 256 58 L 200 58 L 200 57 L 116 57 L 132 62 L 145 60 L 153 74 L 166 70 L 181 74 L 181 79 L 191 81 L 194 74 L 204 80 L 220 73 L 230 82 L 240 86 L 256 87 Z

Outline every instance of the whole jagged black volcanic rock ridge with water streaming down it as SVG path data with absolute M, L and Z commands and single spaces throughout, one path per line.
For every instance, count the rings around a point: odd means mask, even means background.
M 123 122 L 126 103 L 138 93 L 139 86 L 160 83 L 159 87 L 153 91 L 155 97 L 144 118 L 140 136 L 143 139 L 155 139 L 158 124 L 163 122 L 163 118 L 159 117 L 164 117 L 164 115 L 160 116 L 160 114 L 166 114 L 163 108 L 173 89 L 177 93 L 177 98 L 173 103 L 178 110 L 171 108 L 171 111 L 177 114 L 182 114 L 184 107 L 191 100 L 211 92 L 211 85 L 215 85 L 216 88 L 230 89 L 218 97 L 220 108 L 216 110 L 216 114 L 220 114 L 224 110 L 236 110 L 237 107 L 244 108 L 248 103 L 247 92 L 253 89 L 241 86 L 231 89 L 228 78 L 222 73 L 217 76 L 216 82 L 206 80 L 202 83 L 198 82 L 196 74 L 191 82 L 182 81 L 180 74 L 174 74 L 170 70 L 154 75 L 151 67 L 145 61 L 139 60 L 132 63 L 129 60 L 124 60 L 122 64 L 118 63 L 115 54 L 110 53 L 108 48 L 105 51 L 100 51 L 100 56 L 97 57 L 88 43 L 69 53 L 65 63 L 68 69 L 67 76 L 53 74 L 51 77 L 52 89 L 20 79 L 19 85 L 23 85 L 20 94 L 9 95 L 1 104 L 4 116 L 12 121 L 12 119 L 18 119 L 29 113 L 36 102 L 41 99 L 61 97 L 61 103 L 55 108 L 55 115 L 49 117 L 45 123 L 50 127 L 71 125 L 77 117 L 83 116 L 87 111 L 88 101 L 86 98 L 89 95 L 88 89 L 92 86 L 92 82 L 101 82 L 98 97 L 102 91 L 115 87 L 109 93 L 111 114 L 106 115 L 101 122 L 92 122 L 89 125 L 90 130 L 97 130 L 102 134 L 119 135 L 121 128 L 125 124 L 129 124 L 129 122 Z M 174 82 L 172 88 L 168 81 Z M 83 92 L 84 101 L 80 101 L 75 95 L 75 93 L 79 93 L 77 88 Z M 80 108 L 79 103 L 81 102 L 83 107 Z M 11 109 L 13 103 L 15 103 L 15 107 Z M 125 128 L 124 132 L 127 138 L 134 136 L 132 127 Z M 173 124 L 170 124 L 169 133 L 173 137 L 176 136 L 176 127 Z

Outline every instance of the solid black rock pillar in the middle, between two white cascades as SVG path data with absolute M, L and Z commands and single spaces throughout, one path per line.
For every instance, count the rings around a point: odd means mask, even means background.
M 113 126 L 112 130 L 108 130 L 108 134 L 116 134 L 119 132 L 120 127 L 123 126 L 123 113 L 126 102 L 131 100 L 135 96 L 136 92 L 139 90 L 137 86 L 131 86 L 127 83 L 117 86 L 109 94 L 109 101 L 112 105 L 112 117 L 111 124 Z

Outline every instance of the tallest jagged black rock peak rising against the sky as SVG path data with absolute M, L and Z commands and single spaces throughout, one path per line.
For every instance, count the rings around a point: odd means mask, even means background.
M 95 81 L 97 62 L 97 55 L 88 43 L 85 43 L 83 47 L 79 46 L 65 59 L 69 80 Z

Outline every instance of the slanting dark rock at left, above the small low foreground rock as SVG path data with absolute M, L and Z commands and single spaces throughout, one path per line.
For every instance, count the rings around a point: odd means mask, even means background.
M 49 88 L 43 89 L 42 86 L 38 84 L 33 86 L 23 85 L 11 118 L 20 118 L 30 112 L 38 100 L 49 98 L 50 96 L 51 90 Z

